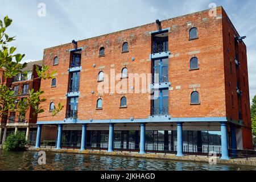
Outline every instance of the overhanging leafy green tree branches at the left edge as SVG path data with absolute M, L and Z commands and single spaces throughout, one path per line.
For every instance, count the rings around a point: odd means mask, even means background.
M 23 71 L 27 67 L 27 63 L 21 64 L 25 55 L 14 53 L 16 47 L 9 48 L 9 43 L 13 42 L 15 37 L 7 35 L 6 29 L 12 22 L 13 20 L 8 16 L 5 16 L 3 21 L 0 19 L 0 68 L 4 70 L 5 78 L 13 78 L 19 74 L 27 75 L 27 72 Z M 40 68 L 36 67 L 36 72 L 38 78 L 43 80 L 55 78 L 56 74 L 56 71 L 49 72 L 49 67 L 45 65 Z M 30 107 L 35 110 L 33 114 L 36 117 L 37 114 L 44 112 L 42 107 L 40 107 L 40 104 L 46 101 L 43 93 L 43 90 L 39 89 L 35 92 L 34 89 L 31 89 L 27 98 L 17 100 L 17 96 L 12 88 L 0 84 L 0 117 L 7 117 L 9 111 L 18 111 L 19 119 L 25 119 L 26 112 Z M 58 107 L 53 109 L 51 115 L 56 115 L 61 109 L 63 109 L 63 104 L 58 104 Z

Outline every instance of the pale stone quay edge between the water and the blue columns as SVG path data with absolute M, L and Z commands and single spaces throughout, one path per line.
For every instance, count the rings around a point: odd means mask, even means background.
M 117 151 L 117 152 L 107 152 L 100 150 L 84 150 L 80 151 L 79 149 L 60 149 L 56 150 L 55 148 L 34 148 L 29 147 L 27 150 L 30 151 L 49 151 L 49 152 L 66 152 L 66 153 L 75 153 L 75 154 L 96 154 L 96 155 L 114 155 L 114 156 L 130 156 L 138 158 L 152 158 L 152 159 L 170 159 L 170 160 L 185 160 L 185 161 L 195 161 L 195 162 L 207 162 L 213 159 L 213 157 L 207 158 L 207 156 L 195 156 L 195 155 L 185 155 L 183 157 L 178 157 L 175 154 L 138 154 L 138 152 L 127 152 L 127 151 Z M 245 166 L 255 166 L 256 167 L 256 158 L 239 158 L 239 159 L 230 159 L 230 160 L 220 160 L 216 157 L 217 164 L 237 164 Z

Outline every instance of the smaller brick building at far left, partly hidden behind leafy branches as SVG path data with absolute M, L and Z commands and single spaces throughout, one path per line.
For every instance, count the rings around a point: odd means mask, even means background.
M 18 96 L 18 100 L 28 98 L 29 90 L 34 89 L 35 92 L 40 88 L 41 79 L 38 78 L 36 73 L 36 67 L 41 67 L 43 61 L 35 61 L 27 64 L 27 67 L 23 71 L 27 71 L 27 76 L 19 74 L 14 78 L 4 78 L 4 69 L 1 72 L 1 84 L 6 84 L 15 91 L 15 95 Z M 16 103 L 18 103 L 18 100 Z M 6 138 L 16 131 L 23 131 L 26 133 L 26 139 L 30 142 L 36 140 L 36 121 L 38 117 L 34 115 L 34 109 L 29 108 L 24 116 L 24 119 L 20 119 L 18 111 L 9 111 L 8 115 L 3 115 L 1 118 L 0 127 L 0 140 L 1 143 L 5 142 Z M 45 130 L 46 127 L 44 127 Z M 47 129 L 48 134 L 44 138 L 49 139 L 49 133 L 52 129 Z M 55 129 L 56 130 L 56 129 Z M 56 134 L 53 133 L 51 137 L 56 138 Z

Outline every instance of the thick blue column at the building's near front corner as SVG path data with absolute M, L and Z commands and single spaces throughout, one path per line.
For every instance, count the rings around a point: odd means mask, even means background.
M 226 123 L 221 122 L 221 159 L 228 160 L 229 152 L 228 152 L 228 135 L 226 131 Z

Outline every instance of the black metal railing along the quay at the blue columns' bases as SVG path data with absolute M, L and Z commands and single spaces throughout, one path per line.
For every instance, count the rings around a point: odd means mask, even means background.
M 35 146 L 35 141 L 29 141 L 28 147 Z M 55 148 L 56 142 L 41 142 L 41 148 Z M 62 148 L 73 148 L 79 149 L 81 147 L 81 141 L 77 142 L 61 142 Z M 105 142 L 89 142 L 85 143 L 86 150 L 108 150 L 109 143 L 108 141 Z M 122 143 L 122 142 L 114 142 L 113 149 L 114 151 L 135 151 L 139 152 L 139 144 L 135 142 L 130 143 Z M 145 143 L 145 151 L 147 154 L 149 153 L 164 153 L 164 154 L 176 154 L 177 153 L 177 146 L 168 144 L 164 145 L 163 143 Z M 183 154 L 184 155 L 203 155 L 203 156 L 216 156 L 221 157 L 221 146 L 203 146 L 197 147 L 196 145 L 183 145 Z M 256 157 L 256 150 L 237 150 L 237 149 L 229 149 L 229 157 L 230 158 L 255 158 Z

